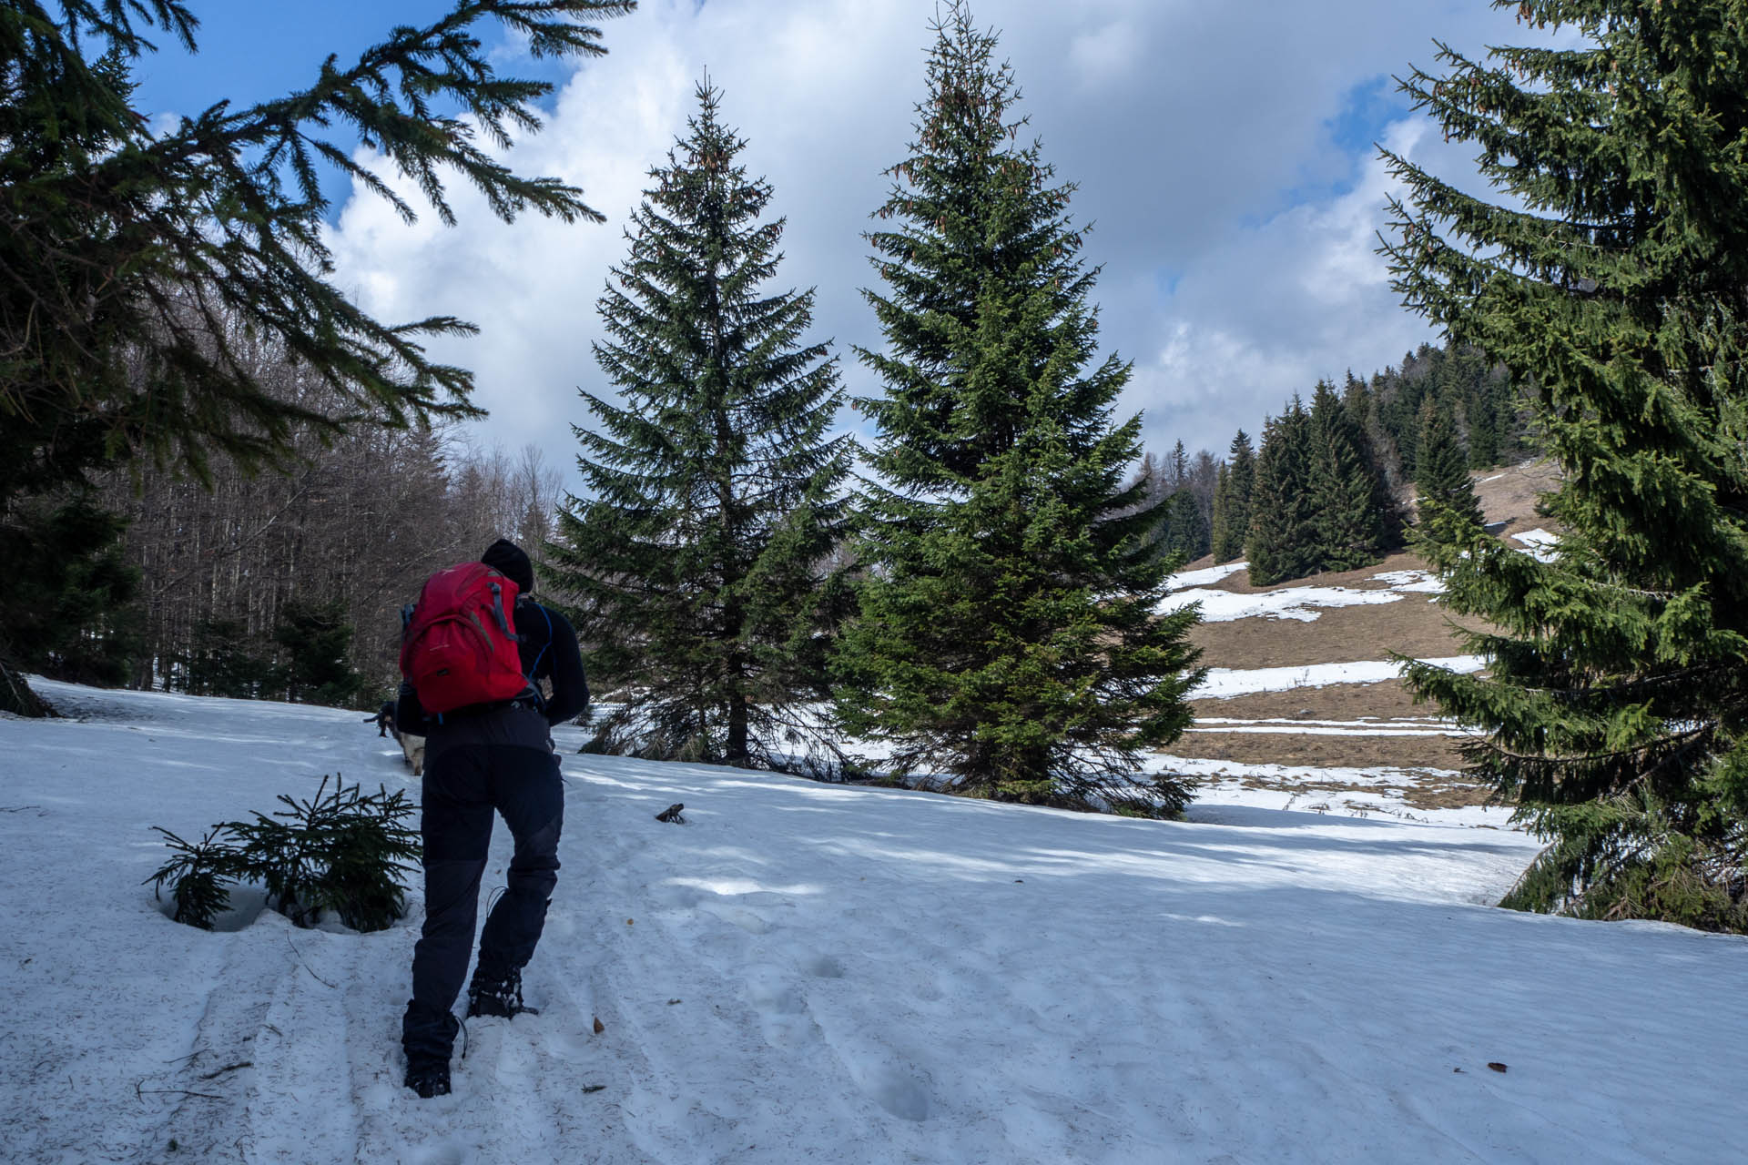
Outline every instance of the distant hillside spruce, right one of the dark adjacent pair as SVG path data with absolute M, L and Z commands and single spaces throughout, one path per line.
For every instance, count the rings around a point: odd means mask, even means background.
M 1351 571 L 1383 557 L 1386 489 L 1365 456 L 1365 435 L 1328 381 L 1311 396 L 1311 472 L 1316 508 L 1316 562 Z

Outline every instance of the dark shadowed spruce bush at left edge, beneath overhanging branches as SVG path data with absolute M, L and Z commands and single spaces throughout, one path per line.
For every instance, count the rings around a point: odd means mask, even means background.
M 128 679 L 140 571 L 122 561 L 121 531 L 84 491 L 17 500 L 0 520 L 0 646 L 17 664 L 72 683 Z

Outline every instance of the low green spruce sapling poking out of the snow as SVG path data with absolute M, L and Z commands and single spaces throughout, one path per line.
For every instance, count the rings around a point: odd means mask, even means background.
M 420 861 L 420 831 L 407 824 L 406 793 L 364 795 L 332 777 L 309 800 L 280 795 L 271 817 L 215 824 L 199 844 L 164 830 L 173 856 L 147 879 L 171 884 L 177 922 L 212 929 L 238 882 L 266 887 L 267 901 L 297 926 L 332 912 L 355 931 L 381 931 L 406 915 L 407 870 Z

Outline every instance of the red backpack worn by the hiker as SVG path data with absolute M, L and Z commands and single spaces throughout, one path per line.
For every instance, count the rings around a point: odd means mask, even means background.
M 516 638 L 514 582 L 461 562 L 425 582 L 400 631 L 400 674 L 428 713 L 514 700 L 528 692 Z

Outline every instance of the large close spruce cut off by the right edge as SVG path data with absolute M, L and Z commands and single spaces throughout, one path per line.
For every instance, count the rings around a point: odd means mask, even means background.
M 1505 905 L 1748 929 L 1748 7 L 1512 0 L 1561 47 L 1404 82 L 1509 204 L 1390 155 L 1404 302 L 1531 386 L 1563 470 L 1536 561 L 1432 557 L 1486 674 L 1409 671 L 1549 847 Z

